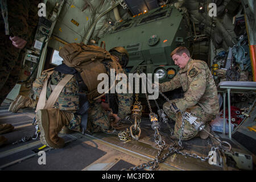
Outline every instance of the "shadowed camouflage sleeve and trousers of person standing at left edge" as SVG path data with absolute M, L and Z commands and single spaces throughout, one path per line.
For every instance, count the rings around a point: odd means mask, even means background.
M 14 88 L 19 78 L 23 51 L 15 48 L 10 36 L 19 36 L 30 47 L 38 24 L 38 4 L 40 1 L 8 0 L 8 22 L 10 35 L 5 35 L 5 23 L 0 13 L 0 104 Z M 1 9 L 0 9 L 1 11 Z

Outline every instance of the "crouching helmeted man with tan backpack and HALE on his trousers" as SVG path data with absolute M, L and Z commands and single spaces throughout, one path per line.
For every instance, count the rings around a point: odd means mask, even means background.
M 63 52 L 67 51 L 65 47 L 71 48 L 73 46 L 74 48 L 75 46 L 84 50 L 88 47 L 74 43 L 69 45 L 64 46 Z M 40 140 L 43 144 L 52 148 L 63 147 L 65 142 L 58 134 L 64 126 L 73 131 L 81 132 L 82 129 L 86 129 L 92 133 L 110 129 L 108 109 L 97 99 L 100 97 L 100 94 L 95 90 L 97 76 L 99 73 L 110 75 L 110 69 L 123 72 L 123 68 L 128 63 L 129 55 L 123 47 L 115 47 L 110 49 L 110 52 L 106 52 L 111 53 L 111 59 L 108 57 L 101 61 L 93 60 L 85 67 L 81 66 L 81 69 L 61 64 L 54 69 L 44 71 L 42 76 L 35 80 L 33 91 L 37 97 L 40 96 L 36 107 L 36 120 L 41 133 Z M 63 56 L 61 50 L 60 56 Z M 64 63 L 65 58 L 67 57 L 63 56 Z M 51 101 L 54 97 L 52 93 L 61 89 L 59 83 L 65 80 L 68 75 L 70 78 L 63 86 L 56 101 Z M 46 97 L 43 97 L 43 94 Z M 130 114 L 130 107 L 133 104 L 133 94 L 118 94 L 117 97 L 118 113 L 112 113 L 115 120 L 125 118 L 127 114 Z M 54 102 L 53 106 L 48 102 Z

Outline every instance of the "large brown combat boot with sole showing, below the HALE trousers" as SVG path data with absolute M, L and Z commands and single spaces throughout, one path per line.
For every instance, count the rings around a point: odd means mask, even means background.
M 52 148 L 62 148 L 65 144 L 60 133 L 63 126 L 67 126 L 71 121 L 71 113 L 60 109 L 41 109 L 36 113 L 40 129 L 40 140 L 46 146 Z

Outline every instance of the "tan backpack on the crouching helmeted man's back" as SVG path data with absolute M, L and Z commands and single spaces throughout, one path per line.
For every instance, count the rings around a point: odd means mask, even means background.
M 102 48 L 104 45 L 104 48 Z M 64 64 L 68 67 L 76 68 L 81 73 L 82 80 L 88 87 L 88 96 L 92 100 L 100 94 L 97 92 L 97 85 L 101 82 L 97 80 L 98 74 L 106 73 L 105 66 L 101 61 L 105 59 L 113 60 L 115 71 L 122 68 L 114 56 L 106 51 L 105 42 L 101 42 L 101 46 L 88 46 L 84 43 L 71 43 L 60 49 L 60 57 L 63 58 Z

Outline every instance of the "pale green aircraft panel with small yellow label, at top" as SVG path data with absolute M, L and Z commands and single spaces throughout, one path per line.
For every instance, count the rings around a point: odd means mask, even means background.
M 67 1 L 57 18 L 53 35 L 68 43 L 82 42 L 94 19 L 110 7 L 109 2 L 101 3 L 101 0 L 87 2 Z M 98 22 L 100 27 L 97 24 L 95 31 L 101 30 L 105 17 Z

